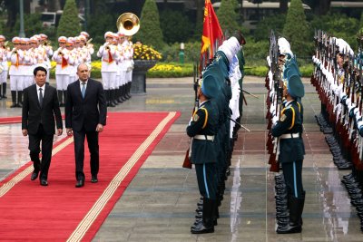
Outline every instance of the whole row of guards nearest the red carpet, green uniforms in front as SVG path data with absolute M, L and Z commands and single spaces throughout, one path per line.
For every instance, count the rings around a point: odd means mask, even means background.
M 232 138 L 238 131 L 231 121 L 241 115 L 241 73 L 237 57 L 241 51 L 240 44 L 245 44 L 245 40 L 239 33 L 224 41 L 198 82 L 198 107 L 187 127 L 187 134 L 192 138 L 190 160 L 195 165 L 201 194 L 196 220 L 191 226 L 192 234 L 214 232 L 219 218 L 218 207 L 230 173 Z

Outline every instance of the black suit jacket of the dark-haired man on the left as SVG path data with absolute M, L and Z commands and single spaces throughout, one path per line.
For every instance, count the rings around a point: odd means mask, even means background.
M 27 130 L 29 134 L 36 134 L 39 124 L 42 123 L 43 130 L 46 134 L 54 134 L 54 117 L 57 129 L 62 129 L 62 116 L 56 89 L 51 85 L 47 85 L 45 87 L 43 94 L 43 106 L 41 107 L 39 104 L 36 84 L 25 88 L 22 129 Z

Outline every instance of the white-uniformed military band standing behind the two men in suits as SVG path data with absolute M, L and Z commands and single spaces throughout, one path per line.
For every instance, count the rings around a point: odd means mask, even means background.
M 14 37 L 14 48 L 5 44 L 5 36 L 0 35 L 0 98 L 6 98 L 7 73 L 10 76 L 12 95 L 11 108 L 22 106 L 23 90 L 34 83 L 33 70 L 42 65 L 47 70 L 47 82 L 51 60 L 56 62 L 55 82 L 58 99 L 64 106 L 66 90 L 69 83 L 77 80 L 76 68 L 80 63 L 86 63 L 91 70 L 91 56 L 94 53 L 92 39 L 86 32 L 79 36 L 58 38 L 59 48 L 53 51 L 45 34 L 35 34 L 31 38 Z M 131 98 L 131 82 L 133 68 L 132 42 L 122 33 L 104 34 L 105 44 L 97 53 L 102 58 L 103 89 L 106 92 L 107 105 L 115 107 Z M 11 65 L 8 67 L 7 62 Z

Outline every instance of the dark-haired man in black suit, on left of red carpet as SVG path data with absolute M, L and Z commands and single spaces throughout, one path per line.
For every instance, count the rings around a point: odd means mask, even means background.
M 24 90 L 22 132 L 24 136 L 29 135 L 30 159 L 34 165 L 31 180 L 36 179 L 40 171 L 40 184 L 47 186 L 55 132 L 54 118 L 58 136 L 62 135 L 63 124 L 56 89 L 45 85 L 44 67 L 35 67 L 34 79 L 35 84 Z M 42 141 L 42 162 L 39 159 L 40 141 Z

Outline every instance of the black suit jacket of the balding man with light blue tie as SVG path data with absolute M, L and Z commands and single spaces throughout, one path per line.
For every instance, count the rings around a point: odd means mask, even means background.
M 103 84 L 88 79 L 84 99 L 80 81 L 68 85 L 65 102 L 65 127 L 74 131 L 95 131 L 97 124 L 106 125 L 107 106 Z

